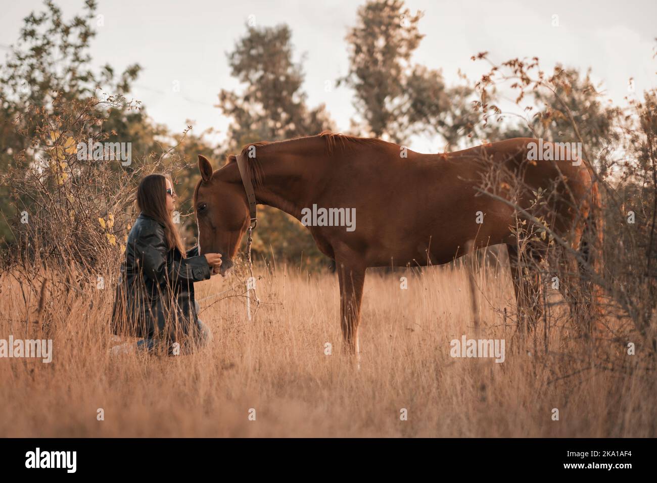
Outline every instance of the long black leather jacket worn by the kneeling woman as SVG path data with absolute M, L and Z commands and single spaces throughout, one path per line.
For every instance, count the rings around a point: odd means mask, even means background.
M 175 341 L 196 327 L 194 282 L 210 278 L 210 265 L 198 247 L 183 258 L 167 248 L 164 225 L 140 214 L 127 237 L 125 261 L 112 308 L 112 331 Z

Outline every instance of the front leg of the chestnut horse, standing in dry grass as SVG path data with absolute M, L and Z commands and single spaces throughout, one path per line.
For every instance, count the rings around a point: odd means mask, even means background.
M 343 350 L 355 354 L 360 360 L 358 323 L 361 318 L 361 300 L 365 285 L 365 267 L 337 264 L 340 283 L 340 327 L 342 328 Z

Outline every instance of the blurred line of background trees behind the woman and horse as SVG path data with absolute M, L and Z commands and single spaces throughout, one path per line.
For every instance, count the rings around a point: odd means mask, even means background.
M 16 156 L 34 156 L 30 139 L 35 123 L 30 117 L 47 112 L 56 123 L 60 104 L 53 103 L 55 97 L 110 99 L 112 102 L 99 109 L 94 134 L 102 133 L 109 142 L 131 142 L 133 154 L 133 164 L 116 163 L 113 169 L 122 176 L 136 173 L 133 189 L 139 182 L 139 166 L 158 163 L 170 170 L 179 193 L 183 231 L 191 243 L 196 229 L 191 196 L 198 181 L 198 154 L 208 156 L 219 168 L 227 154 L 247 143 L 336 130 L 324 104 L 307 104 L 303 65 L 294 61 L 290 28 L 247 24 L 233 51 L 227 53 L 231 74 L 240 81 L 241 89 L 218 93 L 217 108 L 231 120 L 225 141 L 213 145 L 204 133 L 171 132 L 154 122 L 144 106 L 126 100 L 139 76 L 139 64 L 120 74 L 109 65 L 100 72 L 91 68 L 89 47 L 96 34 L 96 9 L 95 0 L 86 0 L 81 13 L 67 21 L 57 5 L 47 0 L 42 12 L 24 19 L 20 38 L 0 68 L 0 172 L 7 170 Z M 466 78 L 448 85 L 440 70 L 413 64 L 413 53 L 424 37 L 421 18 L 422 12 L 411 14 L 403 0 L 367 1 L 359 8 L 346 36 L 349 70 L 335 81 L 336 87 L 353 90 L 357 112 L 344 132 L 403 145 L 410 145 L 413 135 L 424 135 L 442 141 L 445 150 L 518 136 L 576 141 L 572 122 L 562 114 L 558 100 L 565 99 L 576 122 L 583 126 L 580 134 L 589 152 L 595 156 L 608 152 L 616 108 L 603 101 L 588 73 L 563 70 L 569 82 L 560 87 L 558 97 L 534 93 L 530 122 L 502 116 L 486 121 L 476 107 L 497 102 L 495 91 L 481 99 Z M 182 163 L 168 162 L 173 159 Z M 18 216 L 11 186 L 0 186 L 0 215 L 0 241 L 5 249 L 11 249 L 16 241 L 12 225 Z M 301 264 L 304 269 L 329 263 L 306 228 L 269 207 L 260 208 L 254 252 L 256 259 Z

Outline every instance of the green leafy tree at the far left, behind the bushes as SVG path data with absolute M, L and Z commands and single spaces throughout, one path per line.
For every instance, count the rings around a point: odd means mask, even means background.
M 57 5 L 47 0 L 45 11 L 32 12 L 24 18 L 19 41 L 12 46 L 0 70 L 0 137 L 3 141 L 0 170 L 3 172 L 7 171 L 14 156 L 22 154 L 32 158 L 32 140 L 39 137 L 39 120 L 44 115 L 51 118 L 53 131 L 57 131 L 57 120 L 64 114 L 61 106 L 66 106 L 66 101 L 94 97 L 97 86 L 104 86 L 113 93 L 108 96 L 107 110 L 96 112 L 99 120 L 102 114 L 107 114 L 108 132 L 124 137 L 128 129 L 132 129 L 128 124 L 143 124 L 143 114 L 125 108 L 126 103 L 121 98 L 139 74 L 139 65 L 129 66 L 118 78 L 108 65 L 99 75 L 91 69 L 88 51 L 89 42 L 95 36 L 92 23 L 96 18 L 96 6 L 94 0 L 85 1 L 83 14 L 66 22 Z M 123 108 L 116 109 L 117 106 Z M 125 130 L 120 129 L 122 123 L 126 125 Z M 6 223 L 12 212 L 9 187 L 0 187 L 0 195 L 0 240 L 11 242 L 12 233 Z

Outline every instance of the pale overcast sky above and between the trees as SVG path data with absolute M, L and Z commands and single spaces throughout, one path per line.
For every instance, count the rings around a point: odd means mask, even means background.
M 22 18 L 37 0 L 2 1 L 0 55 L 16 42 Z M 56 0 L 64 14 L 81 10 L 82 0 Z M 353 92 L 346 87 L 325 90 L 346 74 L 348 46 L 345 35 L 356 21 L 362 1 L 276 0 L 100 0 L 104 25 L 91 45 L 94 64 L 109 63 L 118 71 L 139 62 L 143 71 L 135 98 L 148 114 L 182 131 L 186 120 L 197 133 L 208 127 L 225 135 L 228 120 L 217 103 L 220 89 L 235 89 L 225 53 L 245 34 L 250 16 L 258 26 L 286 23 L 292 30 L 294 60 L 306 53 L 304 90 L 309 106 L 327 104 L 338 130 L 346 130 L 355 114 Z M 635 94 L 657 85 L 657 61 L 652 59 L 657 37 L 657 1 L 533 1 L 407 0 L 411 12 L 424 11 L 419 28 L 426 37 L 414 62 L 442 69 L 448 84 L 458 83 L 461 69 L 470 79 L 484 72 L 482 62 L 470 56 L 489 51 L 493 60 L 513 57 L 541 59 L 545 68 L 555 62 L 585 70 L 602 81 L 606 95 L 617 103 L 628 95 L 627 81 L 635 79 Z M 553 16 L 558 15 L 558 26 Z M 177 81 L 180 91 L 175 92 Z M 411 149 L 438 152 L 437 139 L 412 139 Z

